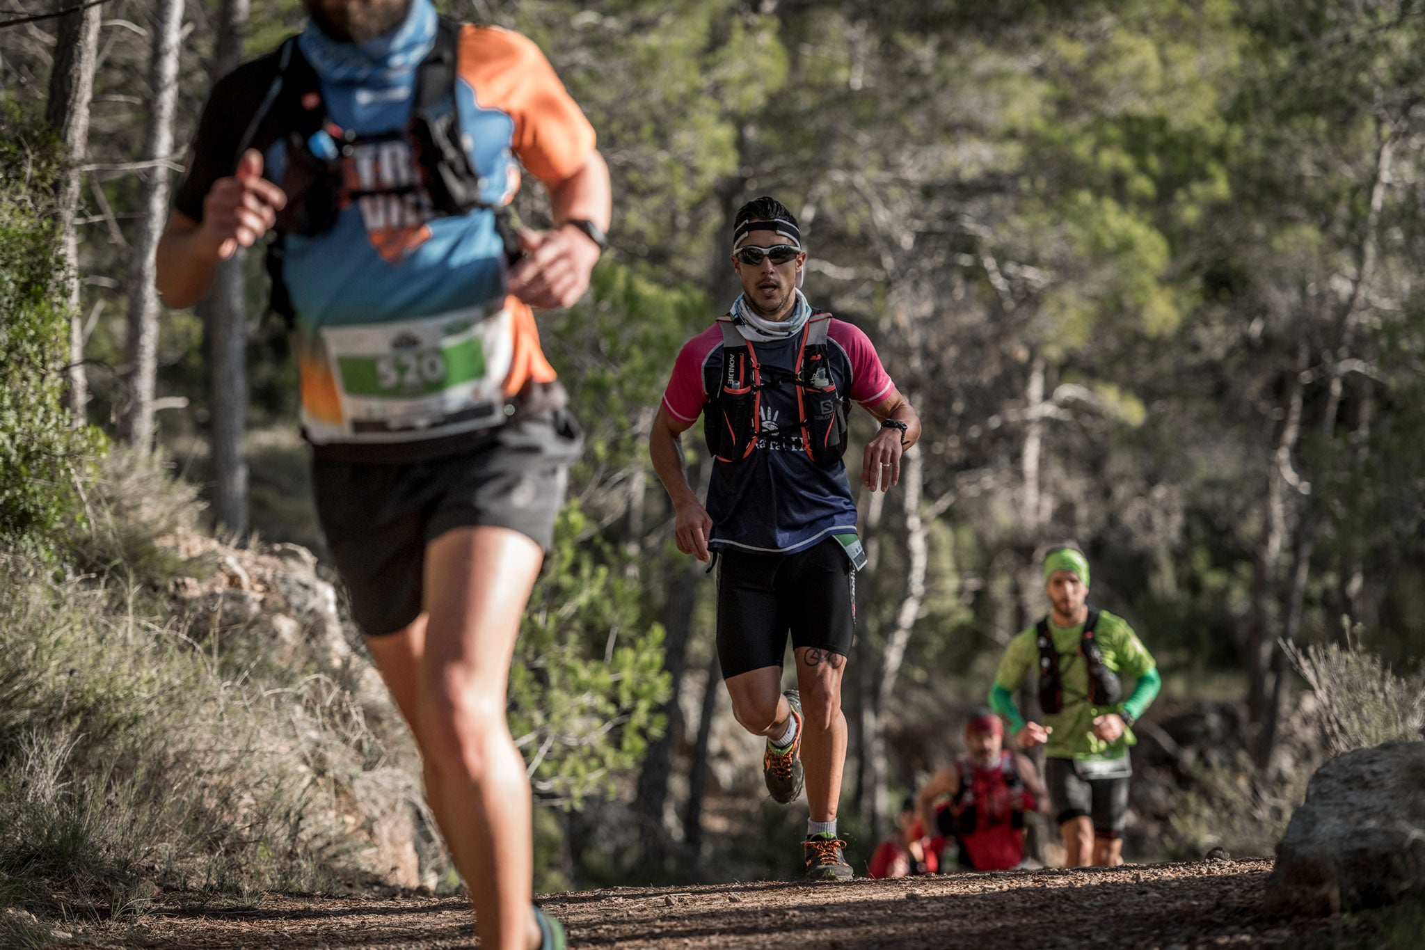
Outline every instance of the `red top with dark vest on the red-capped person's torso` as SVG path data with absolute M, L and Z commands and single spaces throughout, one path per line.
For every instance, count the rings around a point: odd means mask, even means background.
M 1015 769 L 1015 753 L 1000 752 L 988 768 L 965 756 L 955 768 L 960 790 L 952 815 L 960 863 L 975 870 L 1017 866 L 1025 859 L 1025 812 L 1035 810 L 1035 796 Z

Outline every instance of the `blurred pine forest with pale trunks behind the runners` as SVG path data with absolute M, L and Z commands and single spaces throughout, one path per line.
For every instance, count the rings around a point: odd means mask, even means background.
M 712 583 L 677 553 L 644 450 L 678 346 L 737 292 L 731 216 L 755 195 L 798 215 L 808 298 L 868 332 L 925 423 L 902 484 L 858 499 L 854 849 L 953 753 L 1042 614 L 1047 543 L 1087 551 L 1094 601 L 1157 657 L 1160 712 L 1240 715 L 1241 756 L 1180 775 L 1200 808 L 1214 788 L 1211 808 L 1250 816 L 1281 799 L 1274 820 L 1300 800 L 1291 649 L 1345 649 L 1387 685 L 1384 665 L 1421 657 L 1425 4 L 437 6 L 546 50 L 616 188 L 590 295 L 542 316 L 589 442 L 512 681 L 550 806 L 543 887 L 797 860 L 775 843 L 801 816 L 731 768 L 728 749 L 757 749 L 728 738 Z M 54 10 L 0 11 L 0 798 L 27 816 L 0 832 L 0 900 L 44 879 L 134 907 L 135 869 L 222 893 L 328 886 L 343 852 L 335 832 L 314 843 L 311 789 L 338 759 L 348 792 L 399 761 L 399 729 L 375 741 L 332 699 L 341 677 L 190 635 L 171 580 L 212 565 L 154 543 L 184 527 L 323 555 L 261 254 L 197 312 L 162 309 L 148 263 L 211 77 L 302 14 L 105 0 L 31 20 Z M 534 192 L 519 209 L 537 225 Z M 859 417 L 854 451 L 871 432 Z M 301 781 L 205 766 L 155 812 L 197 755 L 174 742 L 195 711 L 252 743 L 275 716 L 294 743 L 316 729 L 355 752 Z M 239 773 L 248 798 L 219 781 Z M 1200 826 L 1180 816 L 1139 857 L 1191 852 Z M 161 860 L 141 837 L 158 829 L 182 842 Z

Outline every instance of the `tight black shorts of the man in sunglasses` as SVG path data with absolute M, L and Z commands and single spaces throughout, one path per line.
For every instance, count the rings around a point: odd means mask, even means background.
M 717 655 L 722 678 L 781 667 L 792 648 L 846 657 L 856 624 L 856 574 L 836 538 L 795 554 L 718 551 Z

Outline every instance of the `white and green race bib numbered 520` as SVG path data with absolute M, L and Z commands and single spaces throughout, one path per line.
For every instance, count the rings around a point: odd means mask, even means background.
M 299 342 L 302 424 L 323 443 L 398 443 L 504 422 L 509 310 L 319 328 Z

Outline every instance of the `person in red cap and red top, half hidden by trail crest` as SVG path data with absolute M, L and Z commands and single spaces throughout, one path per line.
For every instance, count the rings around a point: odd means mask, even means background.
M 1025 812 L 1047 796 L 1035 763 L 1005 748 L 1005 725 L 990 709 L 965 724 L 970 753 L 946 765 L 915 796 L 925 828 L 959 842 L 966 870 L 1009 870 L 1025 860 Z M 935 810 L 949 796 L 948 808 Z

